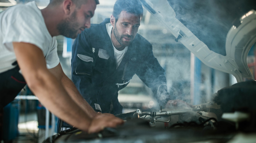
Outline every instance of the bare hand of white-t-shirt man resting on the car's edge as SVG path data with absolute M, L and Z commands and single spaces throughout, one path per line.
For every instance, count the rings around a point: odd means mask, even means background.
M 88 129 L 88 133 L 96 133 L 103 130 L 106 127 L 115 128 L 123 123 L 124 121 L 122 119 L 115 117 L 113 114 L 98 114 L 98 116 L 96 116 L 92 120 L 91 125 Z

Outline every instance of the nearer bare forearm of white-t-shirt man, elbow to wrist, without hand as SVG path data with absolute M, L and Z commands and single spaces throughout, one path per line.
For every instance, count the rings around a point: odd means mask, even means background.
M 28 86 L 40 102 L 54 115 L 87 131 L 91 118 L 71 99 L 62 85 L 48 71 L 26 76 Z

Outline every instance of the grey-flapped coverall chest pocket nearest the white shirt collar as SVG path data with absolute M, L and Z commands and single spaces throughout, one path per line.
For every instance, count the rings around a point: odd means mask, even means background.
M 99 49 L 94 70 L 103 73 L 107 67 L 109 55 L 106 50 Z

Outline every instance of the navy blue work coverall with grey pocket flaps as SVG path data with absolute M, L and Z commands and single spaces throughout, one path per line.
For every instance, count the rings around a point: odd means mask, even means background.
M 159 93 L 166 92 L 164 70 L 153 55 L 152 45 L 137 34 L 116 69 L 113 44 L 107 33 L 105 19 L 92 24 L 75 39 L 72 48 L 72 81 L 84 99 L 95 108 L 100 105 L 102 113 L 122 113 L 118 102 L 118 90 L 127 86 L 134 74 L 152 89 L 160 104 Z M 159 92 L 159 93 L 158 93 Z

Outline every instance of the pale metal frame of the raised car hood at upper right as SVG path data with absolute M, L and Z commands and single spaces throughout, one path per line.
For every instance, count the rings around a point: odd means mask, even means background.
M 237 82 L 242 82 L 243 78 L 254 80 L 251 74 L 246 57 L 250 48 L 256 42 L 256 11 L 250 10 L 240 18 L 241 24 L 232 26 L 226 37 L 226 56 L 211 51 L 206 44 L 198 39 L 186 26 L 177 18 L 173 8 L 168 1 L 140 0 L 160 24 L 176 37 L 188 50 L 198 57 L 205 65 L 230 73 L 235 76 Z

